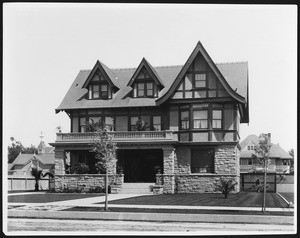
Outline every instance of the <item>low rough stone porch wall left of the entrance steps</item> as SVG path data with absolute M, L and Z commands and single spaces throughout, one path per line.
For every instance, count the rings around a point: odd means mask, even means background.
M 124 182 L 124 175 L 109 175 L 108 181 L 109 184 L 116 182 L 120 185 Z M 83 191 L 88 191 L 90 188 L 104 186 L 105 174 L 65 174 L 55 176 L 56 191 L 61 191 L 64 188 L 83 188 Z

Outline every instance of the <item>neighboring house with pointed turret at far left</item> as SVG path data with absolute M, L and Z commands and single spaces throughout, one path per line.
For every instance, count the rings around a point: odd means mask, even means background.
M 38 145 L 38 154 L 19 154 L 12 164 L 9 164 L 8 174 L 12 176 L 32 177 L 31 169 L 37 168 L 44 172 L 54 170 L 54 147 L 47 147 L 43 141 Z

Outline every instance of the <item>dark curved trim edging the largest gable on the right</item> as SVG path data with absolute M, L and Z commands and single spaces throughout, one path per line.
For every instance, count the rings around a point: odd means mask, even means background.
M 165 102 L 167 99 L 169 99 L 173 95 L 173 93 L 175 92 L 176 88 L 179 86 L 179 83 L 183 79 L 183 77 L 186 74 L 188 68 L 191 66 L 192 62 L 195 60 L 198 53 L 202 54 L 203 58 L 205 59 L 205 61 L 209 65 L 209 67 L 212 69 L 213 73 L 216 75 L 216 77 L 218 78 L 218 80 L 220 81 L 222 86 L 229 93 L 229 95 L 232 96 L 237 101 L 241 102 L 242 104 L 246 104 L 245 98 L 240 96 L 239 94 L 237 94 L 230 87 L 230 85 L 227 83 L 227 81 L 225 80 L 225 78 L 223 77 L 223 75 L 221 74 L 221 72 L 219 71 L 217 66 L 215 65 L 215 63 L 212 61 L 212 59 L 210 58 L 210 56 L 208 55 L 208 53 L 204 49 L 203 45 L 200 43 L 200 41 L 198 41 L 195 49 L 193 50 L 190 57 L 188 58 L 188 60 L 184 64 L 184 66 L 182 67 L 181 71 L 179 72 L 179 74 L 176 77 L 175 81 L 173 82 L 173 84 L 169 88 L 168 92 L 165 93 L 161 98 L 158 98 L 156 100 L 157 104 L 158 105 L 162 104 L 163 102 Z

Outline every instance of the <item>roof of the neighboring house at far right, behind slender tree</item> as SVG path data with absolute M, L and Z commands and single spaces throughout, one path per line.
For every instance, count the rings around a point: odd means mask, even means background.
M 249 135 L 240 143 L 240 146 L 241 146 L 240 157 L 241 158 L 252 158 L 252 154 L 254 153 L 254 151 L 247 149 L 247 145 L 249 145 L 251 143 L 253 143 L 254 145 L 257 145 L 259 143 L 258 136 Z M 279 159 L 293 159 L 293 157 L 290 156 L 284 149 L 282 149 L 279 144 L 273 144 L 273 143 L 271 143 L 269 157 L 270 158 L 279 158 Z

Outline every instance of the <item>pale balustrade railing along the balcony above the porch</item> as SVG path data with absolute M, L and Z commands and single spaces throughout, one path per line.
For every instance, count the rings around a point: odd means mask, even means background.
M 172 131 L 116 131 L 109 132 L 116 142 L 175 141 Z M 56 142 L 91 142 L 95 132 L 57 133 Z

